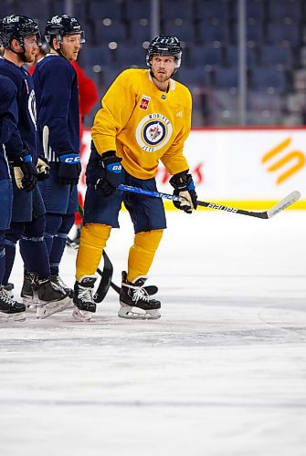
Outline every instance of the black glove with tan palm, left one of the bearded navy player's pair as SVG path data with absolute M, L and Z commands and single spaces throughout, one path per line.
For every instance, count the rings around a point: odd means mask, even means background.
M 13 166 L 18 189 L 31 192 L 37 184 L 37 170 L 28 150 L 23 150 L 23 153 L 14 159 Z

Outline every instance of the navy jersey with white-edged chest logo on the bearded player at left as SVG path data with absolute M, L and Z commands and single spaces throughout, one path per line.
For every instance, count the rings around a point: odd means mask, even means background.
M 16 102 L 18 107 L 17 127 L 23 142 L 24 149 L 37 162 L 37 107 L 32 77 L 24 67 L 17 67 L 14 63 L 0 57 L 0 75 L 10 78 L 16 85 Z M 8 154 L 14 154 L 16 143 L 9 140 L 5 144 Z

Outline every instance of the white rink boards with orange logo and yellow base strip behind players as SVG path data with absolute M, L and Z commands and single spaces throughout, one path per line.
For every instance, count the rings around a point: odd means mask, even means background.
M 90 154 L 90 131 L 84 132 L 82 162 Z M 291 209 L 306 209 L 306 129 L 200 129 L 185 142 L 185 156 L 199 199 L 249 209 L 265 209 L 298 190 L 301 200 Z M 158 190 L 172 192 L 161 164 Z M 82 173 L 81 189 L 85 191 Z M 166 203 L 167 209 L 173 208 Z

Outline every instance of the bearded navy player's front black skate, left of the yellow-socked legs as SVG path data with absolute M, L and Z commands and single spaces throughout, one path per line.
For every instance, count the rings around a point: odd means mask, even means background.
M 33 299 L 37 302 L 37 318 L 47 318 L 65 310 L 71 300 L 58 285 L 49 278 L 39 279 L 36 273 L 29 273 L 33 289 Z

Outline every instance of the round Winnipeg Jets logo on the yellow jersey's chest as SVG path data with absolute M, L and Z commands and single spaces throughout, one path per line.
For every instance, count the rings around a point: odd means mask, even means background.
M 172 132 L 171 122 L 163 114 L 149 114 L 138 124 L 136 140 L 142 150 L 154 152 L 167 144 Z

